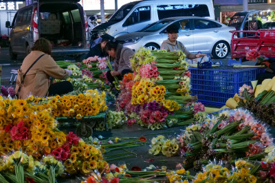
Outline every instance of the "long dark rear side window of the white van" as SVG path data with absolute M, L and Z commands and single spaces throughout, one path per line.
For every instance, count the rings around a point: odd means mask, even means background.
M 157 5 L 159 19 L 173 16 L 210 16 L 207 5 L 183 4 L 183 5 Z

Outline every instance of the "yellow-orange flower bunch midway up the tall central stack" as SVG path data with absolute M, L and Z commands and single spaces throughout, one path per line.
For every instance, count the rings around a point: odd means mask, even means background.
M 148 103 L 150 101 L 157 101 L 162 103 L 164 101 L 164 95 L 166 88 L 164 86 L 158 86 L 148 80 L 141 80 L 135 82 L 132 88 L 132 101 L 133 105 Z

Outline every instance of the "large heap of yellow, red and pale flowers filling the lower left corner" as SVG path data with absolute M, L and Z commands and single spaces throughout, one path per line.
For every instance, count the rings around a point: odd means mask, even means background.
M 94 96 L 85 94 L 89 95 Z M 54 100 L 58 101 L 55 98 L 49 102 L 57 106 Z M 56 129 L 52 108 L 42 101 L 33 96 L 24 100 L 0 98 L 0 182 L 31 178 L 52 183 L 63 173 L 85 175 L 108 168 L 100 149 L 87 145 L 72 132 L 64 134 Z M 104 104 L 96 107 L 104 108 Z

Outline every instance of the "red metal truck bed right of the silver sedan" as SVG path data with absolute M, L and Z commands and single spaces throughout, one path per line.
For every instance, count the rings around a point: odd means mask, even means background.
M 243 33 L 243 37 L 240 37 Z M 261 55 L 275 57 L 275 29 L 259 29 L 256 31 L 235 31 L 232 33 L 231 58 L 245 60 L 250 49 L 257 49 Z

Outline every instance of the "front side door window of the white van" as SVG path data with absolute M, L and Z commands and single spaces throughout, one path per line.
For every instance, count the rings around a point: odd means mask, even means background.
M 135 8 L 132 14 L 126 19 L 123 26 L 134 25 L 151 19 L 151 6 L 142 6 Z

